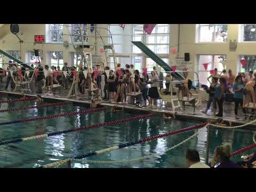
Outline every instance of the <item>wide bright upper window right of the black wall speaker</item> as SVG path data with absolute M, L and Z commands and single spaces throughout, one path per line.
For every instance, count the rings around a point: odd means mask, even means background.
M 198 43 L 227 42 L 228 26 L 222 24 L 199 24 Z

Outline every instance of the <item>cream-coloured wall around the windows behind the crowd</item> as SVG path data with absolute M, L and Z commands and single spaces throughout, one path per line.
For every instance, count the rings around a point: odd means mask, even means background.
M 34 49 L 43 50 L 42 63 L 46 61 L 46 53 L 49 51 L 63 51 L 64 62 L 70 63 L 70 53 L 74 52 L 73 46 L 64 47 L 60 44 L 34 44 L 34 35 L 45 35 L 46 29 L 44 24 L 33 25 L 19 25 L 20 26 L 20 38 L 24 41 L 21 45 L 21 59 L 26 60 L 26 51 L 33 51 Z M 107 24 L 99 24 L 99 27 L 107 27 Z M 4 51 L 18 51 L 20 50 L 20 44 L 18 38 L 15 35 L 8 33 L 10 30 L 9 25 L 4 25 L 0 28 L 0 49 Z M 100 29 L 102 36 L 107 36 L 107 30 Z M 233 69 L 237 71 L 239 69 L 239 55 L 249 54 L 256 55 L 256 43 L 238 43 L 235 51 L 229 50 L 229 39 L 232 41 L 236 39 L 238 41 L 239 24 L 228 25 L 228 41 L 227 43 L 195 43 L 196 42 L 196 24 L 182 24 L 180 25 L 180 56 L 184 53 L 190 53 L 190 59 L 193 65 L 197 64 L 197 54 L 217 54 L 227 55 L 227 69 Z M 63 33 L 68 34 L 67 28 L 63 28 Z M 63 36 L 64 41 L 70 42 L 68 36 Z M 107 43 L 107 38 L 103 38 Z M 131 40 L 131 39 L 130 39 Z M 130 41 L 127 39 L 127 41 Z M 98 39 L 98 44 L 102 44 L 101 39 Z M 99 51 L 101 45 L 96 47 Z M 171 53 L 172 48 L 178 48 L 178 25 L 171 24 L 170 26 L 170 54 L 169 59 L 172 63 L 175 63 L 176 54 Z M 5 60 L 4 60 L 5 62 Z M 172 64 L 171 64 L 172 65 Z

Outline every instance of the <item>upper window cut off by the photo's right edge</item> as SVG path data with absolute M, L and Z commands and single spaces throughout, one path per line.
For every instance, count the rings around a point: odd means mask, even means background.
M 242 42 L 256 42 L 256 24 L 242 25 Z

